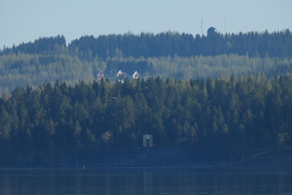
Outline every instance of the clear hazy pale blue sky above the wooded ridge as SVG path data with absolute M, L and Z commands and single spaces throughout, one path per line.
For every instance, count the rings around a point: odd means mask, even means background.
M 63 34 L 67 43 L 84 34 L 137 34 L 175 30 L 203 33 L 214 26 L 224 33 L 292 30 L 292 1 L 13 1 L 0 0 L 0 46 Z

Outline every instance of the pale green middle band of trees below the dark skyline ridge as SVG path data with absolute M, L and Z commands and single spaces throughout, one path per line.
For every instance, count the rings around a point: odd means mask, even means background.
M 133 70 L 147 78 L 160 75 L 163 78 L 195 79 L 197 76 L 215 78 L 229 75 L 265 73 L 273 75 L 292 73 L 291 58 L 259 58 L 238 55 L 123 58 L 115 56 L 103 61 L 96 56 L 91 61 L 71 56 L 60 46 L 48 54 L 11 53 L 0 56 L 0 96 L 10 93 L 15 87 L 36 88 L 39 84 L 56 79 L 74 84 L 79 79 L 93 82 L 94 72 L 99 70 L 122 70 L 130 74 Z

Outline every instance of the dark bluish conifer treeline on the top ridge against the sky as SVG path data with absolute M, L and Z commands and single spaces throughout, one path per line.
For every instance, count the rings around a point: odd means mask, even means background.
M 66 48 L 66 40 L 62 35 L 57 37 L 43 37 L 33 43 L 22 43 L 12 48 L 4 47 L 2 54 L 9 52 L 24 52 L 27 54 L 41 54 L 51 51 L 55 46 Z M 289 57 L 292 55 L 292 35 L 287 29 L 269 33 L 248 32 L 238 34 L 215 34 L 202 37 L 196 34 L 162 32 L 158 34 L 141 32 L 140 34 L 109 34 L 84 35 L 68 44 L 68 53 L 90 61 L 95 56 L 106 60 L 117 54 L 124 57 L 133 56 L 215 56 L 220 54 L 248 55 L 249 57 Z

